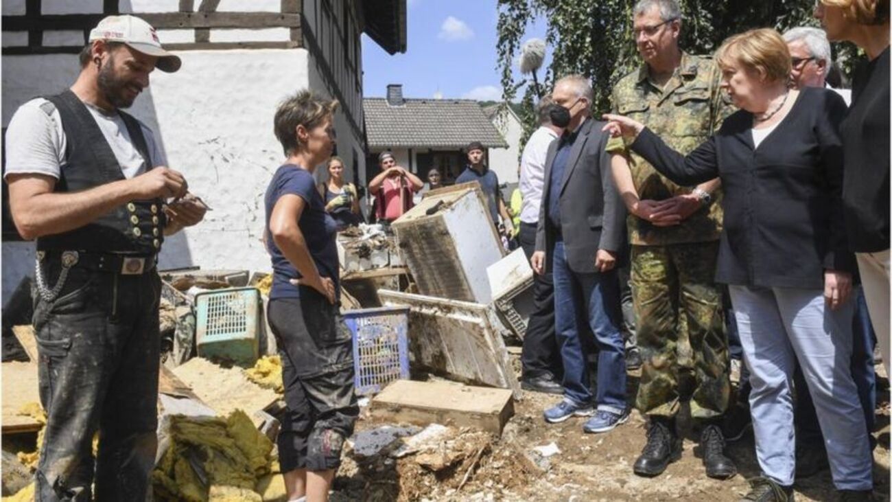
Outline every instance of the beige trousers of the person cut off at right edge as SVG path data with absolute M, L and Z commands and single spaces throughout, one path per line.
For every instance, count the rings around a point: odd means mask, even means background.
M 892 374 L 889 361 L 889 250 L 879 253 L 856 253 L 858 272 L 864 288 L 867 310 L 871 313 L 877 345 L 883 357 L 886 374 Z

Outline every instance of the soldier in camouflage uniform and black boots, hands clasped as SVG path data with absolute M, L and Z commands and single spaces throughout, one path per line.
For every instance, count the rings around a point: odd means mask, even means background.
M 634 33 L 645 63 L 620 79 L 611 97 L 614 113 L 643 122 L 688 153 L 732 110 L 712 58 L 679 49 L 680 29 L 674 0 L 640 0 Z M 663 473 L 681 456 L 674 417 L 680 407 L 679 374 L 690 365 L 696 381 L 690 413 L 702 426 L 706 474 L 731 477 L 737 469 L 723 454 L 719 426 L 731 391 L 728 341 L 721 292 L 713 280 L 722 231 L 719 181 L 679 187 L 629 153 L 622 138 L 613 138 L 607 149 L 616 154 L 615 180 L 630 213 L 632 295 L 643 358 L 636 405 L 650 419 L 635 473 Z

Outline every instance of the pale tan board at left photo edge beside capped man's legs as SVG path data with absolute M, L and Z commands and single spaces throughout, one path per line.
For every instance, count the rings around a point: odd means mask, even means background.
M 11 361 L 3 368 L 3 423 L 4 434 L 34 432 L 43 426 L 30 416 L 19 414 L 22 406 L 39 403 L 37 391 L 37 364 Z

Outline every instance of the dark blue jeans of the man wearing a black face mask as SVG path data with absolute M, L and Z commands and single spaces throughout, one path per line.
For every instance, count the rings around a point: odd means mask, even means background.
M 564 242 L 554 247 L 555 328 L 564 362 L 564 395 L 577 404 L 594 402 L 598 409 L 623 413 L 625 349 L 619 326 L 623 319 L 616 271 L 577 273 L 566 263 Z M 594 256 L 591 257 L 595 259 Z M 591 390 L 586 358 L 586 325 L 598 347 L 598 393 Z

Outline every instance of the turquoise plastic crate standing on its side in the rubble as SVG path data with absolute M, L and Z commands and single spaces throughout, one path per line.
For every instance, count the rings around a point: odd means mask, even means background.
M 198 355 L 250 367 L 260 352 L 260 291 L 232 288 L 195 295 Z

